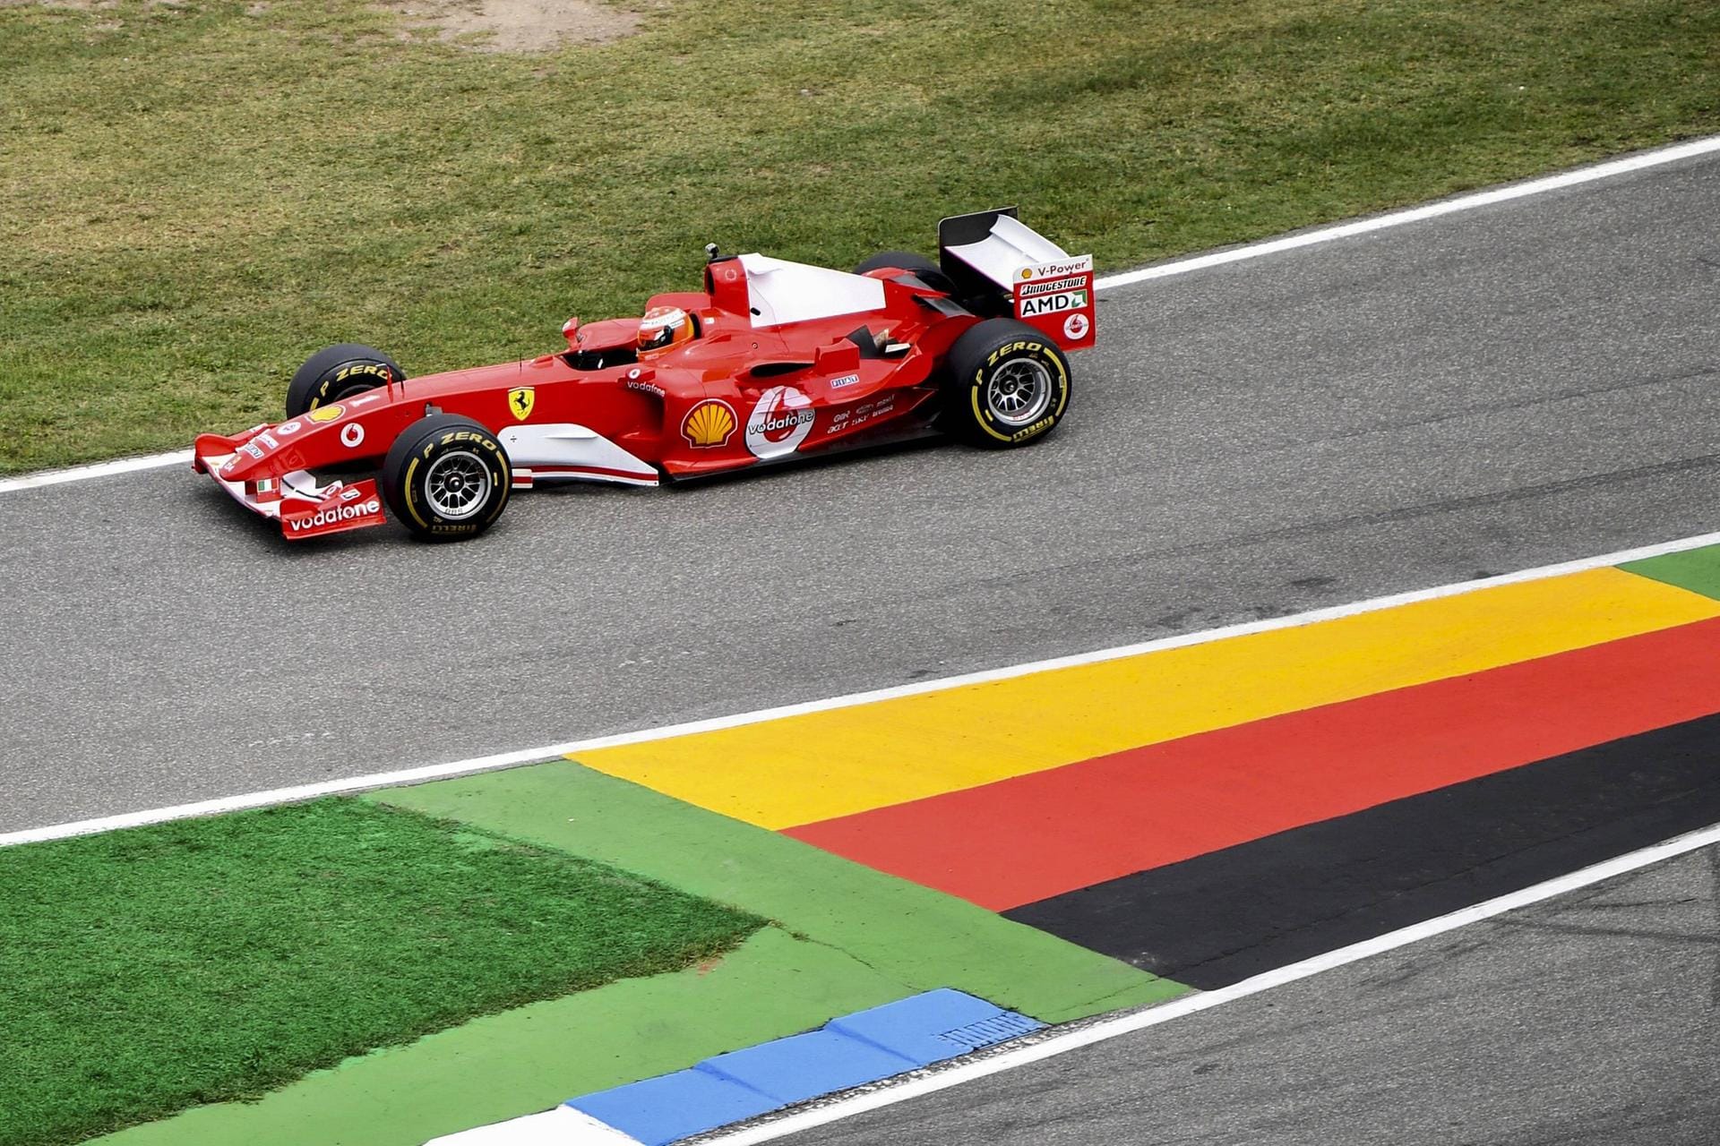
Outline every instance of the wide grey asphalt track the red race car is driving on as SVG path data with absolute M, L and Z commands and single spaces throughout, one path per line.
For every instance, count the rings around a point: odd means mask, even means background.
M 1708 156 L 1115 289 L 1039 445 L 533 491 L 478 543 L 292 545 L 179 467 L 0 495 L 0 830 L 1720 529 L 1717 218 Z

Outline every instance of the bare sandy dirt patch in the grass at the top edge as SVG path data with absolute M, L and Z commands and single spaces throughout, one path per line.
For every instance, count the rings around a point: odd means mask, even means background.
M 590 0 L 387 0 L 411 29 L 478 52 L 552 52 L 638 31 L 638 12 Z

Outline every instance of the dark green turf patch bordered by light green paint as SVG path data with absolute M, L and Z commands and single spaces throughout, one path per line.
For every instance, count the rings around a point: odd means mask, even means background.
M 356 799 L 0 850 L 0 1144 L 253 1098 L 764 921 Z

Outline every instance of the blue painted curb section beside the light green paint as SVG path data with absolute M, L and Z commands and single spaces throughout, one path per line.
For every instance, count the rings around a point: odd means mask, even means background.
M 716 1055 L 674 1074 L 569 1098 L 643 1146 L 667 1146 L 820 1094 L 906 1074 L 1044 1024 L 949 988 Z

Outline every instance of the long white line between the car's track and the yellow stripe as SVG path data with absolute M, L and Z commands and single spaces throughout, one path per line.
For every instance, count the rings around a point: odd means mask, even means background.
M 943 677 L 937 680 L 917 680 L 913 684 L 898 684 L 884 689 L 872 689 L 867 692 L 848 692 L 845 696 L 831 696 L 817 701 L 802 701 L 798 704 L 779 704 L 776 708 L 760 708 L 750 713 L 712 716 L 707 720 L 688 720 L 683 723 L 662 725 L 657 728 L 636 728 L 633 732 L 588 737 L 583 741 L 568 741 L 564 744 L 545 744 L 542 747 L 523 747 L 509 753 L 495 753 L 492 756 L 458 759 L 444 765 L 421 765 L 416 768 L 402 768 L 399 771 L 377 771 L 365 777 L 349 777 L 346 780 L 301 783 L 286 789 L 270 789 L 267 792 L 249 792 L 244 795 L 222 795 L 217 799 L 198 801 L 194 804 L 175 804 L 170 808 L 132 811 L 117 816 L 98 816 L 95 820 L 74 820 L 69 823 L 48 825 L 41 828 L 21 828 L 17 832 L 0 833 L 0 847 L 12 847 L 15 844 L 41 844 L 45 840 L 60 840 L 74 835 L 95 835 L 98 832 L 115 832 L 119 828 L 138 828 L 150 823 L 167 823 L 170 820 L 215 816 L 220 813 L 244 811 L 249 808 L 292 804 L 298 801 L 316 799 L 320 795 L 339 795 L 342 792 L 361 792 L 365 789 L 396 787 L 402 783 L 421 783 L 425 780 L 447 780 L 452 777 L 463 777 L 478 771 L 495 771 L 497 768 L 511 768 L 514 765 L 530 765 L 533 761 L 552 759 L 556 756 L 566 756 L 573 753 L 590 753 L 600 747 L 643 744 L 647 741 L 667 741 L 678 735 L 693 735 L 698 732 L 738 728 L 741 725 L 762 723 L 765 720 L 781 720 L 784 716 L 803 716 L 810 713 L 831 711 L 836 708 L 857 708 L 860 704 L 875 704 L 879 701 L 893 701 L 903 696 L 943 692 L 946 689 L 961 689 L 977 684 L 991 684 L 994 680 L 1010 680 L 1013 677 L 1025 677 L 1035 672 L 1051 672 L 1056 668 L 1096 665 L 1108 660 L 1120 660 L 1123 656 L 1137 656 L 1140 653 L 1158 653 L 1164 649 L 1187 648 L 1190 644 L 1207 644 L 1211 641 L 1223 641 L 1228 637 L 1240 637 L 1254 632 L 1271 632 L 1275 629 L 1295 629 L 1300 625 L 1318 624 L 1321 620 L 1336 620 L 1340 617 L 1354 617 L 1357 613 L 1373 613 L 1383 608 L 1395 608 L 1398 605 L 1433 601 L 1445 596 L 1459 596 L 1462 593 L 1474 593 L 1477 589 L 1491 589 L 1505 584 L 1519 584 L 1524 581 L 1541 581 L 1546 577 L 1560 577 L 1574 572 L 1588 572 L 1591 569 L 1605 569 L 1608 565 L 1639 562 L 1649 557 L 1665 557 L 1667 553 L 1680 553 L 1684 550 L 1696 550 L 1708 545 L 1720 545 L 1720 533 L 1705 533 L 1694 538 L 1679 538 L 1674 541 L 1662 541 L 1658 545 L 1644 545 L 1634 550 L 1603 553 L 1600 557 L 1582 557 L 1570 562 L 1560 562 L 1557 565 L 1541 565 L 1536 569 L 1524 569 L 1519 572 L 1500 574 L 1498 577 L 1484 577 L 1479 581 L 1460 581 L 1455 584 L 1434 586 L 1431 589 L 1410 589 L 1407 593 L 1393 593 L 1390 596 L 1376 596 L 1364 601 L 1350 601 L 1347 605 L 1331 605 L 1328 608 L 1316 608 L 1305 613 L 1292 613 L 1288 617 L 1249 620 L 1237 625 L 1223 625 L 1219 629 L 1206 629 L 1201 632 L 1185 632 L 1171 637 L 1159 637 L 1156 641 L 1142 641 L 1137 644 L 1094 649 L 1090 653 L 1073 653 L 1070 656 L 1053 656 L 1049 660 L 1027 661 L 1023 665 L 1006 665 L 1003 668 L 986 668 L 980 672 Z

